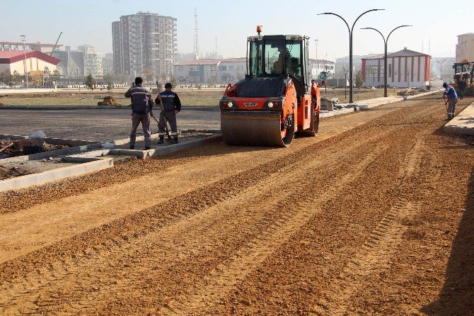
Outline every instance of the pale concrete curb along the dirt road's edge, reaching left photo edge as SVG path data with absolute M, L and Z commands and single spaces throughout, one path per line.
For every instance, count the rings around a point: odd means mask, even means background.
M 39 174 L 28 174 L 26 176 L 18 176 L 16 178 L 0 181 L 0 192 L 8 190 L 18 190 L 19 188 L 27 188 L 28 186 L 45 184 L 47 182 L 69 178 L 70 176 L 88 174 L 93 171 L 108 169 L 110 167 L 113 167 L 113 165 L 114 163 L 112 158 L 105 158 L 98 159 L 93 162 L 78 164 L 76 166 L 52 169 L 41 172 Z

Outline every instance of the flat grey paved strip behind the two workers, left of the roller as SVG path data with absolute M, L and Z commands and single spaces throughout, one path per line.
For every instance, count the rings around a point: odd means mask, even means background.
M 30 135 L 42 130 L 47 137 L 76 140 L 120 140 L 130 134 L 132 120 L 129 108 L 81 110 L 0 110 L 0 134 Z M 158 111 L 155 116 L 158 117 Z M 183 108 L 178 114 L 178 129 L 220 128 L 219 110 Z M 151 131 L 157 132 L 152 120 Z M 143 135 L 139 126 L 137 135 Z

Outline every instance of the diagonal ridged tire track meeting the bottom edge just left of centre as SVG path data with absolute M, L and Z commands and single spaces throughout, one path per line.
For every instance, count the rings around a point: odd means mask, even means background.
M 287 201 L 284 207 L 291 210 L 290 213 L 274 222 L 260 236 L 251 240 L 243 249 L 234 254 L 229 262 L 223 262 L 216 266 L 209 273 L 209 276 L 202 280 L 197 293 L 176 298 L 173 302 L 168 303 L 166 309 L 159 313 L 167 315 L 197 313 L 199 315 L 203 308 L 219 302 L 238 282 L 243 281 L 250 271 L 253 271 L 262 261 L 265 261 L 267 256 L 270 256 L 277 247 L 287 242 L 294 232 L 306 225 L 308 220 L 311 220 L 316 213 L 323 211 L 321 208 L 314 208 L 314 205 L 323 205 L 330 199 L 335 198 L 341 190 L 352 184 L 352 181 L 357 179 L 366 167 L 374 162 L 380 152 L 386 149 L 388 149 L 388 146 L 366 152 L 360 157 L 358 164 L 341 168 L 339 171 L 344 174 L 343 176 L 331 178 L 320 188 L 321 191 L 325 192 L 324 196 L 312 196 L 311 193 L 315 192 L 309 192 L 309 198 Z M 311 180 L 304 179 L 299 188 L 310 187 Z

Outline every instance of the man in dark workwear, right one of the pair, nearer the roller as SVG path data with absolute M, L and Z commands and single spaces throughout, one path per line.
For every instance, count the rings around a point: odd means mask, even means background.
M 158 121 L 158 144 L 163 144 L 165 138 L 166 121 L 170 123 L 173 142 L 178 144 L 178 126 L 176 125 L 176 114 L 181 111 L 181 101 L 178 94 L 171 91 L 173 85 L 165 84 L 165 91 L 158 94 L 155 103 L 161 104 L 160 120 Z

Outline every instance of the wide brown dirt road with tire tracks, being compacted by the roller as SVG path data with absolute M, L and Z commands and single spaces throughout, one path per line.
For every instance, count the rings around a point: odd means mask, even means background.
M 474 152 L 445 111 L 3 193 L 0 314 L 474 315 Z

